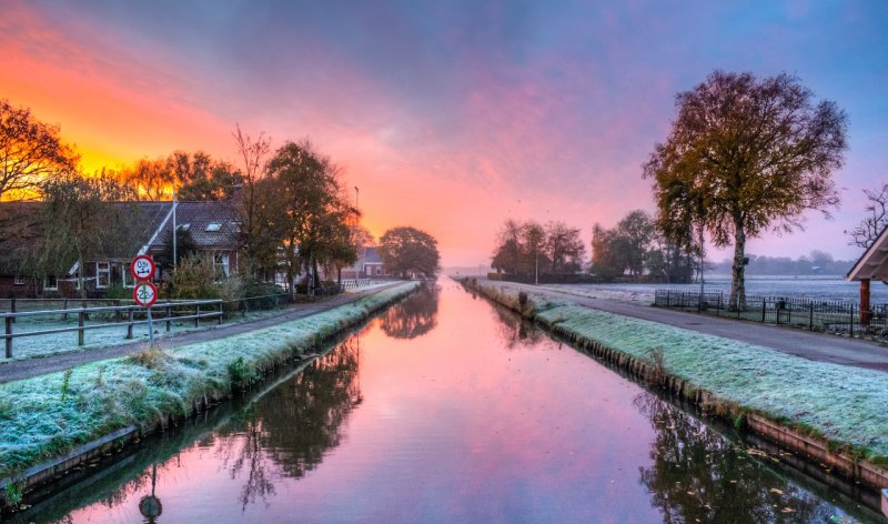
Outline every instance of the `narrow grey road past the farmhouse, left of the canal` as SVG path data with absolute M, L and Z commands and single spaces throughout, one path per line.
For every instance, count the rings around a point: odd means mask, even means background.
M 224 336 L 245 333 L 248 331 L 259 330 L 278 325 L 283 322 L 290 322 L 305 316 L 321 313 L 324 311 L 339 308 L 340 305 L 354 302 L 355 300 L 376 293 L 387 288 L 400 284 L 392 283 L 384 286 L 372 288 L 366 291 L 357 293 L 343 293 L 330 299 L 324 299 L 319 302 L 293 304 L 280 315 L 266 316 L 264 319 L 255 320 L 252 322 L 243 322 L 240 324 L 223 325 L 210 330 L 196 331 L 192 333 L 182 333 L 173 336 L 165 336 L 157 339 L 155 342 L 161 347 L 173 347 L 176 345 L 191 344 L 194 342 L 205 342 L 210 340 L 221 339 Z M 62 353 L 58 355 L 50 355 L 42 359 L 28 359 L 20 361 L 9 361 L 0 363 L 0 383 L 12 382 L 31 376 L 42 375 L 44 373 L 52 373 L 54 371 L 67 370 L 68 367 L 85 364 L 105 359 L 115 359 L 124 356 L 130 353 L 138 353 L 144 350 L 145 342 L 131 342 L 127 344 L 110 345 L 107 347 L 97 347 L 85 351 L 74 351 L 70 353 Z

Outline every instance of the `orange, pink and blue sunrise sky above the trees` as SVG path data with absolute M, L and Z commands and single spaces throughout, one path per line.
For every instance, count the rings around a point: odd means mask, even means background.
M 0 98 L 58 124 L 87 170 L 174 150 L 236 162 L 232 130 L 310 140 L 376 236 L 488 264 L 506 219 L 654 211 L 642 164 L 675 95 L 716 69 L 787 72 L 849 121 L 841 205 L 757 255 L 856 259 L 844 231 L 888 181 L 888 2 L 0 1 Z M 357 193 L 357 194 L 355 194 Z M 712 250 L 722 260 L 728 251 Z

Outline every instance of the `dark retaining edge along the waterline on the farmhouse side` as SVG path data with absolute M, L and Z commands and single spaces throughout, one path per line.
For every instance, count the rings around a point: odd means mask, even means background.
M 386 300 L 372 302 L 370 306 L 361 309 L 356 309 L 354 304 L 342 305 L 337 310 L 347 310 L 347 314 L 343 315 L 341 330 L 333 333 L 319 332 L 313 343 L 309 346 L 296 347 L 284 345 L 278 347 L 273 355 L 265 355 L 266 357 L 263 359 L 262 363 L 244 369 L 243 373 L 245 375 L 262 377 L 269 376 L 283 364 L 292 365 L 292 363 L 296 363 L 300 367 L 303 367 L 321 355 L 321 353 L 319 353 L 319 347 L 330 344 L 332 340 L 335 340 L 345 330 L 360 325 L 372 314 L 402 300 L 417 288 L 418 285 L 415 283 L 414 285 L 404 285 L 400 289 L 400 292 L 391 293 Z M 271 341 L 269 342 L 270 344 L 272 343 Z M 269 356 L 272 357 L 269 359 Z M 255 385 L 255 383 L 251 385 Z M 139 443 L 145 436 L 163 432 L 181 423 L 185 419 L 193 417 L 213 405 L 224 402 L 230 397 L 232 391 L 238 387 L 238 379 L 232 376 L 229 387 L 210 389 L 203 395 L 192 399 L 190 401 L 191 407 L 184 413 L 168 412 L 155 414 L 154 423 L 143 425 L 133 424 L 118 429 L 99 439 L 73 447 L 60 456 L 34 464 L 13 475 L 0 478 L 0 521 L 4 512 L 14 510 L 26 500 L 46 496 L 49 493 L 47 486 L 51 486 L 63 480 L 70 483 L 88 476 L 99 466 L 105 465 L 109 462 L 109 457 Z

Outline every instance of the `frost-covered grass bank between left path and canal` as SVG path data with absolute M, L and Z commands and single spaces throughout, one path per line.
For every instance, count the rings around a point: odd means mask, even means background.
M 0 384 L 0 478 L 129 425 L 186 415 L 413 291 L 410 282 L 273 328 Z

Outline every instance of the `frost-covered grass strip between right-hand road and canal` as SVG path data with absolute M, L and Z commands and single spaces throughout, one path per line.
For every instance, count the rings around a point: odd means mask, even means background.
M 516 289 L 483 284 L 513 308 Z M 888 460 L 888 373 L 815 362 L 758 345 L 619 316 L 531 293 L 527 314 L 544 325 L 647 360 L 663 352 L 667 373 L 741 409 L 788 423 L 834 444 Z

